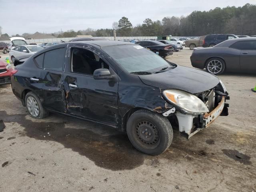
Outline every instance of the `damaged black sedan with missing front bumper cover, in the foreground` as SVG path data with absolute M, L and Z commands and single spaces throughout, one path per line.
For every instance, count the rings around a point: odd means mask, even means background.
M 30 116 L 59 112 L 112 126 L 146 154 L 170 146 L 174 123 L 189 138 L 228 115 L 229 96 L 218 77 L 168 62 L 140 45 L 62 43 L 22 62 L 12 73 L 12 91 Z

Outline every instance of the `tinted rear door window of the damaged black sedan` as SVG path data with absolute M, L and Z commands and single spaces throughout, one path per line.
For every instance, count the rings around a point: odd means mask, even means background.
M 65 48 L 54 49 L 44 54 L 43 67 L 47 69 L 62 70 L 65 60 Z

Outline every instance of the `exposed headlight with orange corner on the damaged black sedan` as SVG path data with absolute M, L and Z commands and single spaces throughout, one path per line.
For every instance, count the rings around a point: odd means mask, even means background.
M 209 112 L 204 102 L 193 94 L 177 89 L 164 90 L 163 93 L 168 101 L 179 106 L 188 114 L 204 114 Z

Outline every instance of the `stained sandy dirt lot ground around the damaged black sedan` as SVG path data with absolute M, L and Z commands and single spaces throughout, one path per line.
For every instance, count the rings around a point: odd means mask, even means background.
M 192 67 L 191 53 L 168 59 Z M 0 87 L 0 191 L 256 191 L 256 76 L 219 77 L 230 93 L 229 116 L 190 140 L 174 130 L 159 156 L 138 152 L 126 134 L 96 123 L 30 118 L 11 86 Z

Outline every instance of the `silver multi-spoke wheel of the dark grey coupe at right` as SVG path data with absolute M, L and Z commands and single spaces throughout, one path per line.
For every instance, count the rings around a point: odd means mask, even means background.
M 221 58 L 211 58 L 206 62 L 205 68 L 207 72 L 214 75 L 219 75 L 224 71 L 225 63 Z

